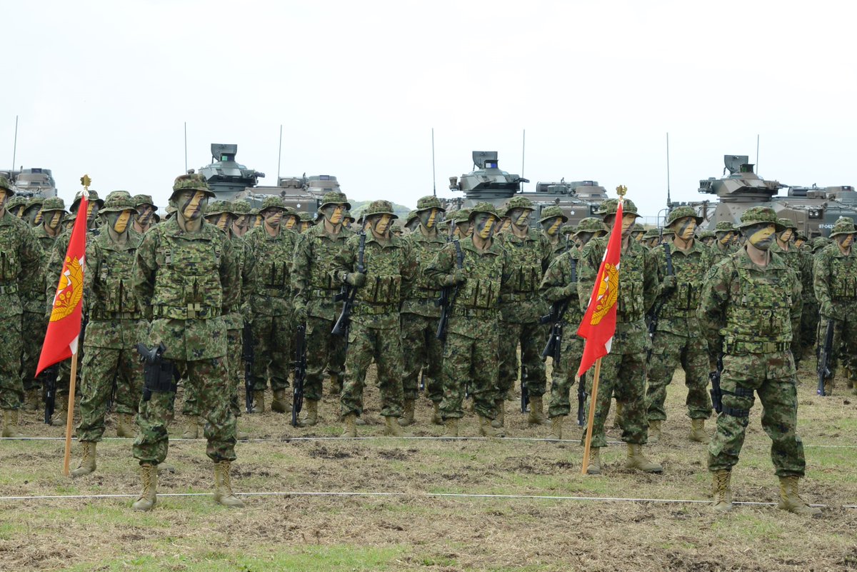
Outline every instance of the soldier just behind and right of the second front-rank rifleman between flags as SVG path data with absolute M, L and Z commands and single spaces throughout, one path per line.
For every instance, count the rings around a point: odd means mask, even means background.
M 538 293 L 542 273 L 553 254 L 548 239 L 536 229 L 530 229 L 534 210 L 526 197 L 513 197 L 506 203 L 506 216 L 512 220 L 505 234 L 503 247 L 512 260 L 509 277 L 511 291 L 500 301 L 500 376 L 497 380 L 497 423 L 504 422 L 505 400 L 518 379 L 518 367 L 525 368 L 530 396 L 530 425 L 544 423 L 542 396 L 545 392 L 545 367 L 542 361 L 542 343 L 547 335 L 539 319 L 548 313 L 548 307 Z M 558 221 L 557 221 L 558 222 Z M 559 228 L 559 224 L 556 224 Z M 518 364 L 518 343 L 521 346 L 521 363 Z M 522 389 L 523 390 L 523 389 Z

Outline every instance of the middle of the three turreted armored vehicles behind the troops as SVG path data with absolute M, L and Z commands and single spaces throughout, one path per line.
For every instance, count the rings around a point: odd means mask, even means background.
M 581 219 L 590 217 L 598 209 L 602 200 L 606 200 L 607 191 L 596 181 L 537 182 L 535 191 L 524 191 L 521 183 L 529 182 L 518 175 L 510 175 L 498 167 L 497 152 L 474 151 L 474 170 L 449 179 L 452 191 L 461 191 L 464 198 L 455 197 L 446 200 L 447 211 L 457 208 L 469 208 L 481 201 L 488 201 L 500 207 L 515 195 L 522 195 L 536 205 L 534 217 L 541 217 L 542 208 L 559 206 L 568 217 L 568 223 L 577 224 Z

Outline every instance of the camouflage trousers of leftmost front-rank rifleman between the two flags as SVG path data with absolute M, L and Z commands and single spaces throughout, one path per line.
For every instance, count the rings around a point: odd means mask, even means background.
M 378 366 L 381 415 L 399 417 L 402 414 L 402 341 L 399 327 L 370 328 L 352 320 L 348 331 L 348 353 L 345 355 L 345 384 L 340 397 L 343 416 L 363 414 L 366 370 L 373 358 Z

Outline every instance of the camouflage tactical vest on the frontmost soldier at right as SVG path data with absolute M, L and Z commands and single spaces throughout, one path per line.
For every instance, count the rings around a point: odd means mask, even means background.
M 735 265 L 734 260 L 731 264 Z M 723 350 L 730 355 L 785 351 L 792 340 L 788 267 L 756 271 L 735 265 L 735 271 L 722 332 Z

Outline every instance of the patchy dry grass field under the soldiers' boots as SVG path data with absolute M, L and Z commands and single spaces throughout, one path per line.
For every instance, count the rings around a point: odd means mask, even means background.
M 370 372 L 369 378 L 373 378 Z M 0 500 L 0 570 L 848 570 L 857 569 L 857 396 L 839 388 L 815 396 L 801 372 L 800 433 L 806 444 L 804 498 L 823 503 L 822 518 L 804 519 L 769 505 L 737 506 L 717 516 L 706 503 L 596 502 L 573 499 L 461 498 L 432 493 L 550 497 L 708 500 L 706 447 L 686 440 L 686 390 L 679 373 L 669 388 L 664 438 L 647 448 L 662 475 L 622 467 L 625 447 L 604 456 L 605 474 L 580 475 L 582 447 L 505 439 L 440 441 L 287 440 L 339 434 L 334 397 L 323 423 L 293 429 L 289 416 L 243 416 L 255 441 L 239 444 L 237 492 L 387 492 L 396 496 L 249 495 L 245 509 L 213 502 L 211 462 L 202 440 L 171 444 L 175 474 L 159 479 L 151 513 L 130 509 L 140 490 L 130 440 L 99 444 L 99 470 L 61 474 L 61 441 L 0 441 L 0 496 L 128 494 L 134 498 Z M 380 435 L 377 391 L 366 396 L 369 426 Z M 543 438 L 507 403 L 510 437 Z M 770 440 L 761 406 L 740 464 L 736 501 L 776 502 Z M 419 402 L 419 436 L 438 436 Z M 375 412 L 375 414 L 373 414 Z M 566 422 L 569 438 L 578 429 Z M 27 435 L 59 437 L 60 428 L 25 415 Z M 174 432 L 181 432 L 181 419 Z M 713 429 L 713 423 L 708 423 Z M 464 435 L 476 436 L 475 417 Z M 610 436 L 615 440 L 619 432 Z M 107 436 L 111 436 L 108 429 Z M 610 438 L 610 437 L 608 437 Z M 78 453 L 76 444 L 75 456 Z M 163 493 L 206 493 L 167 497 Z

